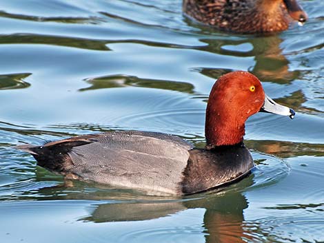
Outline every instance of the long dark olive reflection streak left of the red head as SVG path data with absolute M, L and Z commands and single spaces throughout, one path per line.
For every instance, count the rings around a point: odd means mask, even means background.
M 138 78 L 136 76 L 128 75 L 101 76 L 98 78 L 88 78 L 85 81 L 90 83 L 91 86 L 79 89 L 79 91 L 132 86 L 147 87 L 151 89 L 168 89 L 188 94 L 194 93 L 194 86 L 190 83 L 163 81 L 149 78 Z

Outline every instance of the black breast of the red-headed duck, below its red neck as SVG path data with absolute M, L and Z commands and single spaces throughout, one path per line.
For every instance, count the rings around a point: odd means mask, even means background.
M 216 149 L 192 149 L 182 181 L 184 194 L 207 191 L 243 178 L 254 167 L 252 156 L 243 145 Z

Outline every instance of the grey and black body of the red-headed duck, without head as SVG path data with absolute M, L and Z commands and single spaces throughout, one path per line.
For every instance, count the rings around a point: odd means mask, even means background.
M 178 136 L 147 131 L 112 131 L 21 149 L 30 152 L 39 166 L 66 178 L 160 195 L 220 187 L 254 165 L 243 145 L 206 151 Z

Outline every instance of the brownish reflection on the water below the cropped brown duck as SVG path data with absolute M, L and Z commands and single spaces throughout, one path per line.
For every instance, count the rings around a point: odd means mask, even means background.
M 237 36 L 236 39 L 201 39 L 207 46 L 201 50 L 221 55 L 251 57 L 254 56 L 255 65 L 250 72 L 261 81 L 286 84 L 298 78 L 300 72 L 289 69 L 289 61 L 281 50 L 283 40 L 273 36 Z M 250 45 L 250 47 L 249 47 Z M 234 67 L 234 66 L 233 66 Z M 201 68 L 201 74 L 211 78 L 219 78 L 222 74 L 232 70 Z

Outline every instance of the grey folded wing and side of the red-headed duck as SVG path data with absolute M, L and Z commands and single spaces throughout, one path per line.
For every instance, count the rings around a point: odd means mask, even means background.
M 177 136 L 142 131 L 99 134 L 68 152 L 70 171 L 83 180 L 118 187 L 181 193 L 192 145 Z

